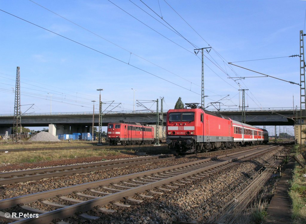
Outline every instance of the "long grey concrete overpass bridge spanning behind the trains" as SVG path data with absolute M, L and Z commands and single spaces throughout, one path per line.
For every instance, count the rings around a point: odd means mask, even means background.
M 233 120 L 240 121 L 242 119 L 242 112 L 239 109 L 221 109 L 210 110 L 218 112 Z M 164 124 L 166 122 L 166 110 L 163 111 Z M 245 111 L 246 123 L 254 126 L 260 125 L 294 125 L 300 123 L 300 110 L 294 108 L 248 108 Z M 305 118 L 305 114 L 302 114 Z M 297 119 L 296 119 L 297 118 Z M 92 112 L 64 112 L 64 113 L 39 113 L 39 114 L 25 114 L 21 117 L 21 124 L 23 127 L 49 127 L 56 128 L 56 135 L 69 133 L 83 133 L 90 132 L 92 126 L 93 114 Z M 107 126 L 110 122 L 129 121 L 140 122 L 147 124 L 156 123 L 156 114 L 151 111 L 114 111 L 102 115 L 102 126 Z M 0 114 L 0 134 L 6 131 L 11 132 L 14 122 L 13 114 Z M 94 126 L 99 125 L 99 113 L 95 113 Z

